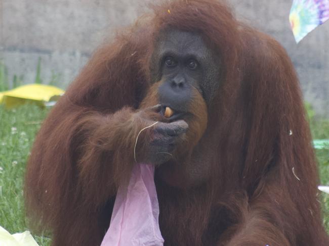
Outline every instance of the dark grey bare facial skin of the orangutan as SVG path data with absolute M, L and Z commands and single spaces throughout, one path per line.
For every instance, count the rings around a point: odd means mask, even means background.
M 209 104 L 219 87 L 219 58 L 196 33 L 164 31 L 153 54 L 158 66 L 159 103 L 186 111 L 195 88 Z

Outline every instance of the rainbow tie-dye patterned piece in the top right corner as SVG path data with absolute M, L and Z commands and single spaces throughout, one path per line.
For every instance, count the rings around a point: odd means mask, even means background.
M 289 21 L 296 42 L 328 19 L 329 0 L 294 0 Z

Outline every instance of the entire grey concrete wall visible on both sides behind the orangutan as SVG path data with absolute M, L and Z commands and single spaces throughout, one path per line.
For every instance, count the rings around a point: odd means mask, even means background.
M 91 53 L 115 29 L 132 23 L 145 1 L 129 0 L 0 0 L 0 59 L 9 78 L 35 80 L 38 58 L 45 83 L 65 87 Z M 329 22 L 298 45 L 289 26 L 292 0 L 228 0 L 238 19 L 274 36 L 298 71 L 305 100 L 329 116 Z

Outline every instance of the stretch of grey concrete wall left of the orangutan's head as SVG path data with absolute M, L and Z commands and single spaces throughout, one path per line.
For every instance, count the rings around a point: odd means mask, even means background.
M 9 78 L 24 75 L 24 82 L 33 82 L 40 57 L 44 82 L 59 79 L 64 87 L 115 28 L 137 18 L 139 6 L 129 0 L 0 2 L 0 45 Z

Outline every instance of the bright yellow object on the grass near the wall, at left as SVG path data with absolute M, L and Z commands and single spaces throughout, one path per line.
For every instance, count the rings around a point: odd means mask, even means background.
M 44 84 L 27 84 L 15 89 L 0 93 L 0 103 L 8 108 L 26 103 L 36 103 L 40 106 L 47 106 L 56 102 L 64 94 L 64 90 Z

